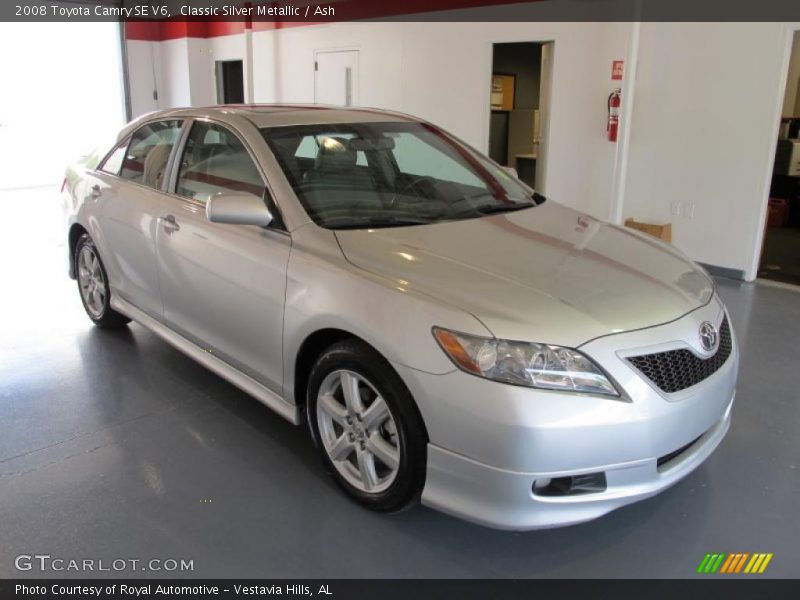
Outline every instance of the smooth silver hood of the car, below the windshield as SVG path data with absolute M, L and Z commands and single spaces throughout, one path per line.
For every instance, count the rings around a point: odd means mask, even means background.
M 336 237 L 353 265 L 468 311 L 505 339 L 575 347 L 672 321 L 713 295 L 675 248 L 550 201 Z

